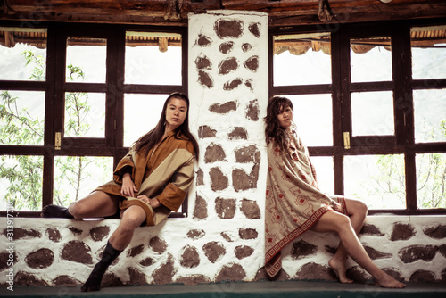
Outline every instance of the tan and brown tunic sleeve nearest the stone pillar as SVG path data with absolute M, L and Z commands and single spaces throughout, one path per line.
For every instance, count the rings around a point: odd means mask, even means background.
M 176 170 L 169 184 L 164 188 L 158 201 L 171 211 L 178 211 L 186 198 L 189 186 L 194 181 L 194 156 L 192 155 Z

